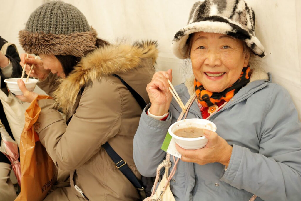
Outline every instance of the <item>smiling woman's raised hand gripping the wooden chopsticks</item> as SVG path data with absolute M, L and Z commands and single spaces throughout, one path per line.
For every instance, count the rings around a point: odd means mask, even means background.
M 151 101 L 150 112 L 153 115 L 162 116 L 169 110 L 172 94 L 169 92 L 167 79 L 172 81 L 172 69 L 155 73 L 146 86 Z

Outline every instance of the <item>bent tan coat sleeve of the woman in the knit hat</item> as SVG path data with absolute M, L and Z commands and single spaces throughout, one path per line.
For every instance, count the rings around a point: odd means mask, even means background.
M 38 103 L 42 110 L 36 131 L 61 170 L 73 170 L 84 164 L 120 129 L 121 94 L 116 85 L 105 79 L 85 88 L 68 127 L 52 109 L 53 100 Z

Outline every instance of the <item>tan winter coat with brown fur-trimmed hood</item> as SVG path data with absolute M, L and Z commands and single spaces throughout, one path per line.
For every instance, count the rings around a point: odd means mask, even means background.
M 36 132 L 56 167 L 70 171 L 71 188 L 54 190 L 47 200 L 139 198 L 135 187 L 115 167 L 101 145 L 108 141 L 136 176 L 141 177 L 133 161 L 133 137 L 141 108 L 112 74 L 119 75 L 149 103 L 146 85 L 154 74 L 157 53 L 155 42 L 109 45 L 83 57 L 60 83 L 55 84 L 53 74 L 39 83 L 54 97 L 56 107 L 67 117 L 73 115 L 67 126 L 53 108 L 54 100 L 39 101 L 42 110 L 34 125 Z

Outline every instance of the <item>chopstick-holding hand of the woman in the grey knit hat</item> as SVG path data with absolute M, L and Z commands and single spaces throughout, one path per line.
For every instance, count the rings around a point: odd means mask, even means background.
M 33 70 L 29 75 L 30 77 L 36 77 L 39 78 L 40 80 L 45 80 L 45 78 L 50 73 L 50 70 L 44 69 L 43 61 L 41 59 L 35 59 L 33 55 L 28 55 L 28 58 L 26 58 L 26 54 L 22 54 L 20 59 L 21 59 L 20 65 L 22 66 L 22 68 L 24 68 L 25 62 L 27 62 L 25 68 L 25 72 L 27 75 L 30 71 L 31 65 L 33 64 Z

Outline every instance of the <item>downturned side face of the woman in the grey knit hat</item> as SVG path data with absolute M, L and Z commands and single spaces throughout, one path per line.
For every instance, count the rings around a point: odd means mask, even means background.
M 65 78 L 65 73 L 61 62 L 54 55 L 39 55 L 43 61 L 43 67 L 50 70 L 51 73 L 57 74 L 58 77 Z

